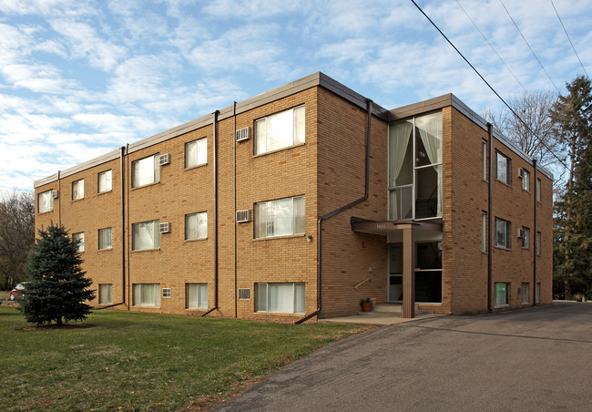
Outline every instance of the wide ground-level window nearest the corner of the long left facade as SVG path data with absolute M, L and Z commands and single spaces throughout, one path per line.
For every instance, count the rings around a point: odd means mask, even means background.
M 257 283 L 255 285 L 257 312 L 304 314 L 305 298 L 304 283 Z

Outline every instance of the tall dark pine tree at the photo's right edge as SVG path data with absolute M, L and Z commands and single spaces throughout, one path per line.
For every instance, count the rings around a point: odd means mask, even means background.
M 592 86 L 587 77 L 566 85 L 552 110 L 569 154 L 566 192 L 556 202 L 554 285 L 592 298 Z

